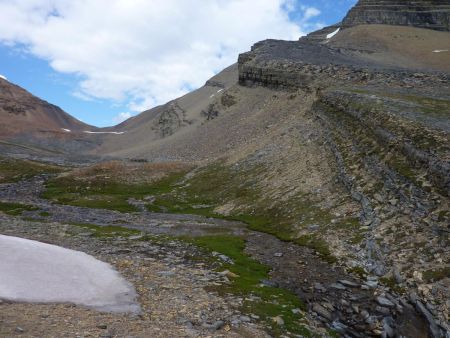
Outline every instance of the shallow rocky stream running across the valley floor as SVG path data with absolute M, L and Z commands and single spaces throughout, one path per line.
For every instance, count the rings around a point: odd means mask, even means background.
M 426 320 L 409 302 L 379 285 L 377 277 L 357 279 L 343 268 L 321 260 L 312 249 L 249 231 L 240 222 L 54 204 L 40 197 L 47 179 L 46 175 L 41 175 L 18 183 L 1 184 L 0 201 L 33 205 L 39 210 L 25 211 L 22 216 L 40 221 L 121 226 L 171 236 L 244 236 L 246 253 L 271 268 L 270 280 L 261 282 L 294 292 L 316 321 L 343 337 L 429 337 Z M 43 217 L 42 212 L 49 216 Z

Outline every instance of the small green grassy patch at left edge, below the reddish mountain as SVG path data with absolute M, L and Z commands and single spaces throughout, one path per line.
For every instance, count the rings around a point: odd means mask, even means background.
M 0 157 L 0 183 L 14 183 L 40 174 L 55 174 L 65 168 L 28 160 Z

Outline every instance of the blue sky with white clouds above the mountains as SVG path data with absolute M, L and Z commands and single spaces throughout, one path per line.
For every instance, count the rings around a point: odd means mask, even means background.
M 356 0 L 0 0 L 0 77 L 111 126 L 201 87 L 264 39 L 297 40 Z

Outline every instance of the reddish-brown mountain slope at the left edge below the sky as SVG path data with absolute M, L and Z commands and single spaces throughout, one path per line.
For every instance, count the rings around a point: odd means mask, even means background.
M 98 128 L 23 88 L 0 79 L 0 148 L 5 153 L 50 156 L 85 151 L 93 146 Z

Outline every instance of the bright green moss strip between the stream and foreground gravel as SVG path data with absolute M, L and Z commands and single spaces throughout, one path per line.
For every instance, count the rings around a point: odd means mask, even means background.
M 245 241 L 233 236 L 208 236 L 185 239 L 209 252 L 218 252 L 233 260 L 233 264 L 223 264 L 222 268 L 230 271 L 229 285 L 217 288 L 221 294 L 232 293 L 245 298 L 242 310 L 247 314 L 257 315 L 279 337 L 286 332 L 310 337 L 311 333 L 302 324 L 299 310 L 306 311 L 305 305 L 288 290 L 268 287 L 261 284 L 269 279 L 269 267 L 257 262 L 244 253 Z M 284 325 L 274 321 L 281 317 Z

